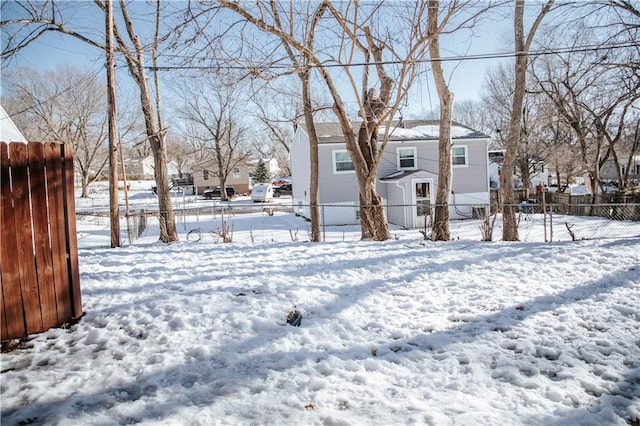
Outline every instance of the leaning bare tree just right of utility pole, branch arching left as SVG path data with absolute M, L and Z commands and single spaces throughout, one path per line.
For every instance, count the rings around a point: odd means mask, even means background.
M 139 89 L 140 105 L 145 122 L 147 141 L 154 157 L 155 180 L 158 192 L 158 210 L 160 221 L 160 240 L 170 243 L 178 240 L 175 225 L 175 216 L 169 194 L 169 181 L 167 171 L 167 158 L 165 146 L 166 129 L 163 128 L 160 111 L 160 93 L 157 80 L 157 57 L 159 45 L 162 41 L 160 35 L 160 22 L 162 20 L 160 1 L 156 1 L 153 9 L 153 21 L 155 23 L 152 40 L 149 43 L 151 52 L 146 50 L 141 42 L 140 35 L 134 27 L 134 20 L 129 14 L 127 2 L 119 1 L 120 19 L 114 22 L 115 52 L 120 54 L 126 63 L 130 75 Z M 103 0 L 94 0 L 93 6 L 97 7 L 101 14 L 107 13 L 106 3 Z M 5 3 L 3 3 L 4 10 Z M 104 31 L 76 30 L 71 21 L 65 19 L 66 12 L 73 12 L 75 7 L 84 7 L 82 2 L 65 3 L 48 0 L 32 3 L 29 1 L 14 2 L 9 16 L 3 13 L 0 28 L 3 34 L 9 34 L 3 46 L 2 59 L 10 59 L 29 44 L 36 42 L 48 32 L 66 34 L 81 40 L 88 45 L 105 50 L 106 45 L 101 40 Z M 104 15 L 102 15 L 104 16 Z M 120 29 L 120 23 L 125 30 Z M 104 28 L 100 25 L 100 28 Z M 95 30 L 95 29 L 94 29 Z M 151 55 L 154 76 L 154 90 L 149 83 L 146 59 Z

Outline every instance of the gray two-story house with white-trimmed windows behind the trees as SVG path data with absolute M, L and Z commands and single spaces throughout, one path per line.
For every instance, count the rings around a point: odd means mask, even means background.
M 389 223 L 420 228 L 435 204 L 438 185 L 437 121 L 395 123 L 378 168 L 376 190 L 387 206 Z M 357 132 L 360 123 L 354 123 Z M 380 135 L 384 128 L 379 129 Z M 318 135 L 319 203 L 324 224 L 359 222 L 359 188 L 339 123 L 316 124 Z M 490 137 L 454 123 L 452 129 L 452 194 L 450 217 L 472 217 L 474 207 L 489 204 L 488 146 Z M 309 217 L 309 138 L 296 130 L 291 147 L 293 203 L 296 213 Z

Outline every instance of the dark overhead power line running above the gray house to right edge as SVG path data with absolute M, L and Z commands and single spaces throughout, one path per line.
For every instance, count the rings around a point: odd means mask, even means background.
M 602 50 L 610 50 L 610 49 L 625 49 L 632 47 L 640 47 L 638 43 L 624 43 L 624 44 L 612 44 L 612 45 L 585 45 L 585 46 L 574 46 L 574 47 L 562 47 L 556 49 L 543 49 L 543 50 L 535 50 L 529 53 L 525 52 L 496 52 L 496 53 L 481 53 L 477 55 L 459 55 L 459 56 L 445 56 L 442 58 L 424 58 L 424 59 L 416 59 L 412 62 L 415 63 L 433 63 L 433 62 L 454 62 L 454 61 L 475 61 L 475 60 L 483 60 L 483 59 L 504 59 L 504 58 L 514 58 L 518 56 L 548 56 L 548 55 L 558 55 L 558 54 L 566 54 L 566 53 L 585 53 L 585 52 L 597 52 Z M 216 59 L 218 60 L 218 59 Z M 224 62 L 220 60 L 221 62 Z M 397 65 L 401 64 L 402 61 L 393 60 L 393 61 L 381 61 L 381 62 L 353 62 L 350 64 L 321 64 L 321 65 L 309 65 L 310 68 L 343 68 L 343 67 L 364 67 L 370 65 Z M 280 70 L 288 70 L 293 71 L 293 67 L 289 65 L 176 65 L 176 66 L 147 66 L 146 67 L 150 71 L 174 71 L 174 70 L 257 70 L 263 71 L 266 69 L 280 69 Z

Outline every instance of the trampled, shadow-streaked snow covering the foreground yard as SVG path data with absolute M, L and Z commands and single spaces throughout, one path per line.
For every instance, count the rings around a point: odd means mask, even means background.
M 81 248 L 85 315 L 2 353 L 2 424 L 640 420 L 637 228 L 309 243 L 291 241 L 301 219 L 258 216 L 274 229 L 259 241 Z

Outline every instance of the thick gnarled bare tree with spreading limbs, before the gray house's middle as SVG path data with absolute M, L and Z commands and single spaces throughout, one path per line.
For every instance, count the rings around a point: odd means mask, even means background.
M 254 8 L 230 1 L 220 1 L 220 4 L 261 31 L 278 37 L 294 57 L 301 55 L 304 62 L 297 64 L 304 68 L 296 68 L 296 73 L 302 79 L 310 78 L 311 70 L 318 73 L 333 100 L 333 111 L 342 127 L 346 147 L 354 163 L 360 188 L 362 238 L 388 239 L 390 233 L 382 198 L 376 192 L 376 173 L 393 129 L 393 118 L 420 70 L 416 59 L 426 55 L 429 35 L 421 31 L 427 15 L 426 5 L 336 5 L 325 0 L 315 8 L 313 14 L 307 15 L 307 28 L 313 31 L 308 31 L 308 38 L 301 39 L 295 36 L 295 32 L 289 31 L 289 28 L 295 28 L 291 19 L 293 8 L 289 10 L 288 6 L 275 1 L 270 2 L 269 7 L 258 3 Z M 380 7 L 388 7 L 385 13 L 387 16 L 393 15 L 393 19 L 379 19 Z M 291 26 L 285 25 L 283 17 L 287 17 L 286 23 Z M 295 17 L 300 18 L 297 15 Z M 310 41 L 319 40 L 315 29 L 326 17 L 331 17 L 334 24 L 323 24 L 323 31 L 330 37 L 323 37 L 322 48 L 319 48 Z M 403 39 L 403 42 L 395 44 L 399 39 Z M 329 45 L 333 40 L 335 42 Z M 391 61 L 385 65 L 385 59 Z M 352 67 L 356 60 L 361 61 L 357 73 Z M 327 66 L 329 63 L 332 67 Z M 358 104 L 358 115 L 362 121 L 355 127 L 344 101 L 345 94 L 338 89 L 338 74 L 352 88 L 349 95 Z M 304 80 L 302 82 L 304 95 L 310 84 L 305 84 Z M 311 105 L 306 99 L 304 102 L 305 112 L 310 112 Z M 307 131 L 313 138 L 315 131 L 311 123 L 307 121 Z M 379 134 L 381 126 L 385 129 L 382 139 Z M 313 142 L 311 151 L 314 152 Z

